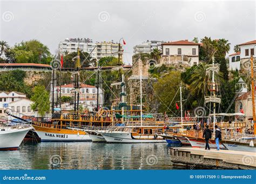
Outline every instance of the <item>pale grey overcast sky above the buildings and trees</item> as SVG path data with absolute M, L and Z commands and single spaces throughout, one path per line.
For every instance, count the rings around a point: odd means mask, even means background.
M 0 0 L 1 1 L 1 0 Z M 255 40 L 255 1 L 1 1 L 0 39 L 10 46 L 37 39 L 56 52 L 65 38 L 119 41 L 131 63 L 146 40 L 204 36 L 236 44 Z

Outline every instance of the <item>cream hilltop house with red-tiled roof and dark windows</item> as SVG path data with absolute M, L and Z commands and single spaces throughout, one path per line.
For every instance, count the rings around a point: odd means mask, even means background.
M 163 56 L 161 63 L 183 63 L 190 66 L 199 63 L 199 45 L 188 40 L 179 40 L 162 44 Z

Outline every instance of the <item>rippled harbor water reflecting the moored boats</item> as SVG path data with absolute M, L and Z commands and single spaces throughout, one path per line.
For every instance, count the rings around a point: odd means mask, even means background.
M 25 143 L 0 152 L 0 169 L 178 169 L 165 143 Z

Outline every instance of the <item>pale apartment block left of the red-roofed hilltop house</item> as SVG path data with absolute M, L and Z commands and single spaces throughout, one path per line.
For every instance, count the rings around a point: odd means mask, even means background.
M 159 51 L 162 51 L 161 44 L 163 44 L 164 41 L 145 41 L 142 44 L 136 45 L 133 47 L 133 53 L 138 54 L 138 53 L 150 53 L 153 51 L 154 48 L 157 48 Z

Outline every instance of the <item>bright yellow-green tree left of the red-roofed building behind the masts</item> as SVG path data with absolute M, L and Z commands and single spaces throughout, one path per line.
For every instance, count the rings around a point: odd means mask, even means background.
M 33 89 L 33 93 L 34 94 L 31 97 L 31 100 L 33 101 L 31 108 L 33 111 L 38 111 L 38 114 L 43 117 L 46 112 L 50 111 L 50 93 L 45 90 L 44 86 L 36 86 Z

